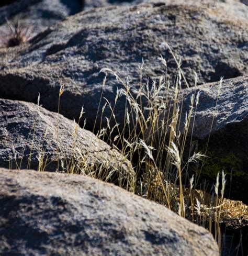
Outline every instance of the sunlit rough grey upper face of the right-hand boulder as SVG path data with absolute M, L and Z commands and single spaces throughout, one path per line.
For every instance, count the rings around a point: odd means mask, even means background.
M 243 127 L 243 129 L 240 127 L 243 131 L 240 133 L 247 138 L 248 130 L 244 129 L 248 119 L 247 90 L 248 76 L 223 80 L 221 86 L 220 82 L 216 82 L 199 85 L 196 90 L 195 88 L 183 90 L 183 116 L 189 110 L 190 96 L 200 93 L 197 111 L 193 114 L 193 118 L 195 117 L 194 136 L 199 139 L 206 138 L 210 133 L 212 118 L 215 115 L 212 133 L 224 130 L 227 126 L 239 124 Z M 192 125 L 193 123 L 189 131 Z M 236 131 L 238 133 L 241 130 Z

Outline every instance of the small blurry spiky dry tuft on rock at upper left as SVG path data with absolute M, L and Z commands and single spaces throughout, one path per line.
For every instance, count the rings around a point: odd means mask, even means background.
M 7 25 L 0 30 L 0 45 L 4 47 L 15 47 L 28 42 L 33 37 L 33 29 L 18 21 L 12 24 L 6 19 Z

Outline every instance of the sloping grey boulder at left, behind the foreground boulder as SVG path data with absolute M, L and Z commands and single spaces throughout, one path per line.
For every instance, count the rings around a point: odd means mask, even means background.
M 58 114 L 51 113 L 42 107 L 39 110 L 37 108 L 38 106 L 33 103 L 0 99 L 1 167 L 9 168 L 10 159 L 12 160 L 10 165 L 12 169 L 32 168 L 37 170 L 40 154 L 43 158 L 43 169 L 55 171 L 58 148 L 59 171 L 66 172 L 73 163 L 79 164 L 80 161 L 83 161 L 87 163 L 88 168 L 93 165 L 95 170 L 100 170 L 102 165 L 104 170 L 117 169 L 120 173 L 133 175 L 131 164 L 123 155 L 117 150 L 111 149 L 107 143 L 98 139 L 92 132 L 78 126 L 77 135 L 74 136 L 75 124 L 62 115 L 59 116 L 58 142 Z M 46 159 L 47 165 L 45 164 Z M 61 161 L 64 162 L 63 170 Z M 83 168 L 83 165 L 81 167 Z

